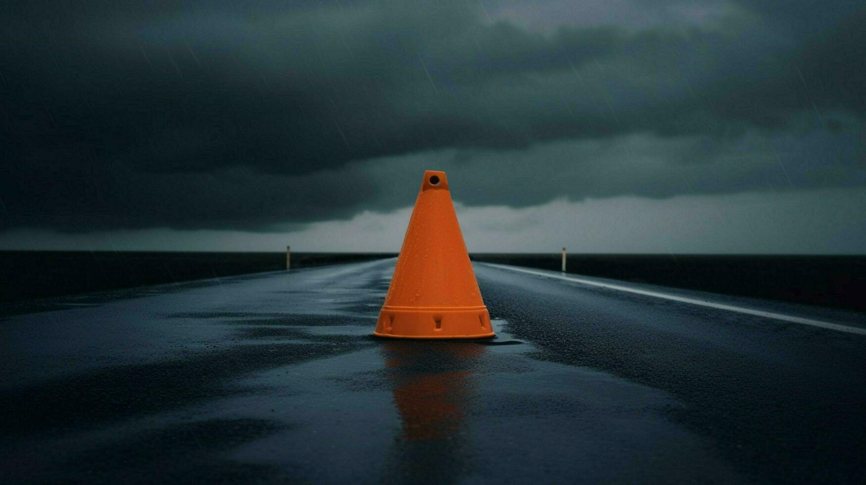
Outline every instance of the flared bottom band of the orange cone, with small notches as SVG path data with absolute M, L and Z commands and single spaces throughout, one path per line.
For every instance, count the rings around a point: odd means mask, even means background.
M 391 339 L 489 339 L 487 307 L 382 307 L 373 335 Z

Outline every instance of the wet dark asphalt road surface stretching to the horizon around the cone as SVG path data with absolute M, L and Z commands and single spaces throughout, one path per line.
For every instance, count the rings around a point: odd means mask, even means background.
M 376 340 L 394 262 L 0 308 L 0 482 L 866 481 L 866 336 L 477 264 L 495 340 Z

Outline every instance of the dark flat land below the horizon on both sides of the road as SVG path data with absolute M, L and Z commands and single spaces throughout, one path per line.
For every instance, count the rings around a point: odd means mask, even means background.
M 292 253 L 293 268 L 396 256 Z M 473 254 L 559 270 L 559 254 Z M 0 303 L 286 268 L 285 253 L 0 251 Z M 862 255 L 569 255 L 569 273 L 866 312 Z

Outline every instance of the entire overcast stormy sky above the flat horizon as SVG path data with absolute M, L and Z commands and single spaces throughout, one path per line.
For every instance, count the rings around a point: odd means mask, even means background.
M 0 248 L 866 253 L 866 6 L 0 3 Z

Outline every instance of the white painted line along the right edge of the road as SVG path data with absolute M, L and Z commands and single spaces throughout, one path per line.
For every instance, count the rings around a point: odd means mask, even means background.
M 755 315 L 755 316 L 759 316 L 759 317 L 771 318 L 771 319 L 775 319 L 775 320 L 790 321 L 792 323 L 799 323 L 801 325 L 811 325 L 811 327 L 819 327 L 819 328 L 826 328 L 828 330 L 836 330 L 837 332 L 856 333 L 857 335 L 866 335 L 866 328 L 849 327 L 847 325 L 839 325 L 837 323 L 830 323 L 829 321 L 810 320 L 810 319 L 795 317 L 795 316 L 791 316 L 791 315 L 774 314 L 772 312 L 762 312 L 760 310 L 753 310 L 750 308 L 734 307 L 732 305 L 723 305 L 721 303 L 713 303 L 712 301 L 703 301 L 703 300 L 695 300 L 694 298 L 685 298 L 682 296 L 676 296 L 674 294 L 664 294 L 664 293 L 658 293 L 655 291 L 647 291 L 647 290 L 643 290 L 643 289 L 629 288 L 629 287 L 623 287 L 623 286 L 619 286 L 619 285 L 611 285 L 609 283 L 601 283 L 598 281 L 584 280 L 582 278 L 572 278 L 571 276 L 552 275 L 550 273 L 545 273 L 543 271 L 534 271 L 533 269 L 515 268 L 514 266 L 507 266 L 504 264 L 494 264 L 492 262 L 484 262 L 481 264 L 484 264 L 486 266 L 491 266 L 493 268 L 501 268 L 501 269 L 507 269 L 509 271 L 517 271 L 518 273 L 526 273 L 527 275 L 545 276 L 547 278 L 554 278 L 554 279 L 558 279 L 558 280 L 574 281 L 577 283 L 583 283 L 585 285 L 591 285 L 593 287 L 598 287 L 598 288 L 614 289 L 617 291 L 624 291 L 624 292 L 628 292 L 628 293 L 643 294 L 646 296 L 654 296 L 656 298 L 663 298 L 665 300 L 680 301 L 682 303 L 690 303 L 692 305 L 700 305 L 701 307 L 718 308 L 720 310 L 727 310 L 729 312 L 737 312 L 740 314 L 749 314 L 749 315 Z

